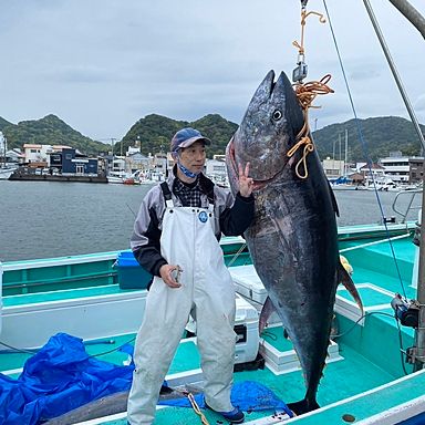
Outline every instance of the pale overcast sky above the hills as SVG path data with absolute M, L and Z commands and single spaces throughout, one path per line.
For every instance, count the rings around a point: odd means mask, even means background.
M 425 43 L 390 3 L 372 0 L 425 124 Z M 425 14 L 424 0 L 411 3 Z M 356 114 L 407 117 L 362 0 L 326 0 Z M 322 0 L 308 10 L 325 13 Z M 121 139 L 145 115 L 239 123 L 267 72 L 292 74 L 299 0 L 3 0 L 0 116 L 55 114 L 84 135 Z M 329 22 L 309 17 L 307 81 L 332 74 L 312 127 L 353 118 Z

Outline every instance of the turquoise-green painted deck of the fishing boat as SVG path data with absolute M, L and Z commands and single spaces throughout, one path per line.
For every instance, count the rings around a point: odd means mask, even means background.
M 353 280 L 363 300 L 365 317 L 361 318 L 360 310 L 351 296 L 343 287 L 340 287 L 334 325 L 336 334 L 334 341 L 338 343 L 335 348 L 339 356 L 330 359 L 328 362 L 318 393 L 318 402 L 324 407 L 292 419 L 292 422 L 336 425 L 357 423 L 423 395 L 425 374 L 412 374 L 412 367 L 404 363 L 400 350 L 400 341 L 403 341 L 403 349 L 413 344 L 413 330 L 398 328 L 390 305 L 395 292 L 405 293 L 408 298 L 416 296 L 416 290 L 411 286 L 416 247 L 412 243 L 411 237 L 401 237 L 400 232 L 393 234 L 392 246 L 388 241 L 376 242 L 376 237 L 367 238 L 365 236 L 359 247 L 359 240 L 354 242 L 352 239 L 354 234 L 355 229 L 346 231 L 344 238 L 340 238 L 340 248 L 354 268 Z M 231 249 L 225 253 L 227 262 L 231 262 L 232 266 L 249 263 L 247 252 L 238 256 L 237 261 L 234 261 L 234 252 L 240 248 L 240 241 L 235 240 L 234 242 Z M 393 251 L 397 258 L 396 263 L 393 259 Z M 110 278 L 111 276 L 108 276 Z M 107 282 L 108 279 L 103 284 L 95 283 L 80 288 L 62 288 L 59 284 L 54 291 L 21 292 L 19 296 L 10 293 L 3 297 L 3 309 L 141 292 L 141 290 L 123 290 L 117 282 Z M 276 351 L 292 352 L 291 343 L 283 339 L 280 326 L 268 328 L 262 336 L 263 344 L 272 345 Z M 108 335 L 104 341 L 87 341 L 86 350 L 91 355 L 99 355 L 102 360 L 123 364 L 128 360 L 127 355 L 113 350 L 124 343 L 133 343 L 134 338 L 133 333 Z M 3 352 L 0 354 L 0 370 L 11 377 L 17 377 L 30 355 L 30 353 Z M 175 374 L 186 373 L 190 376 L 198 369 L 199 354 L 196 343 L 193 339 L 183 339 L 167 379 L 173 382 Z M 263 370 L 235 372 L 235 381 L 261 383 L 288 403 L 301 400 L 305 391 L 300 370 L 276 374 L 268 367 L 268 363 Z M 210 411 L 203 411 L 203 413 L 209 424 L 224 423 Z M 273 412 L 270 411 L 248 412 L 246 422 L 257 423 L 257 419 L 269 417 L 272 414 Z M 122 413 L 89 423 L 126 424 L 126 418 L 125 413 Z M 199 416 L 193 410 L 184 407 L 160 407 L 155 421 L 157 425 L 197 423 L 200 424 Z

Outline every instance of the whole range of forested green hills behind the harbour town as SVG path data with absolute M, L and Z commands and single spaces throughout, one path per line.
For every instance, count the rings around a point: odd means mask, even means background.
M 359 124 L 359 125 L 357 125 Z M 169 141 L 180 128 L 191 126 L 199 129 L 212 141 L 207 147 L 207 156 L 224 154 L 226 145 L 238 128 L 238 124 L 225 120 L 218 114 L 210 114 L 194 122 L 176 121 L 156 114 L 138 120 L 123 137 L 115 143 L 115 154 L 123 154 L 128 146 L 141 143 L 141 152 L 145 155 L 160 151 L 168 152 Z M 364 146 L 359 139 L 357 128 L 362 129 Z M 387 156 L 392 151 L 401 151 L 406 156 L 419 156 L 421 144 L 413 124 L 398 116 L 350 120 L 345 123 L 328 125 L 313 133 L 314 142 L 321 159 L 334 156 L 344 158 L 345 129 L 348 131 L 348 159 L 362 162 Z M 422 126 L 425 131 L 425 126 Z M 12 124 L 0 117 L 0 131 L 8 138 L 8 147 L 22 147 L 24 143 L 50 145 L 69 145 L 82 153 L 96 155 L 111 149 L 111 145 L 93 141 L 70 127 L 55 115 L 48 115 L 37 121 L 23 121 Z M 341 142 L 341 143 L 340 143 Z M 341 146 L 341 148 L 340 148 Z

